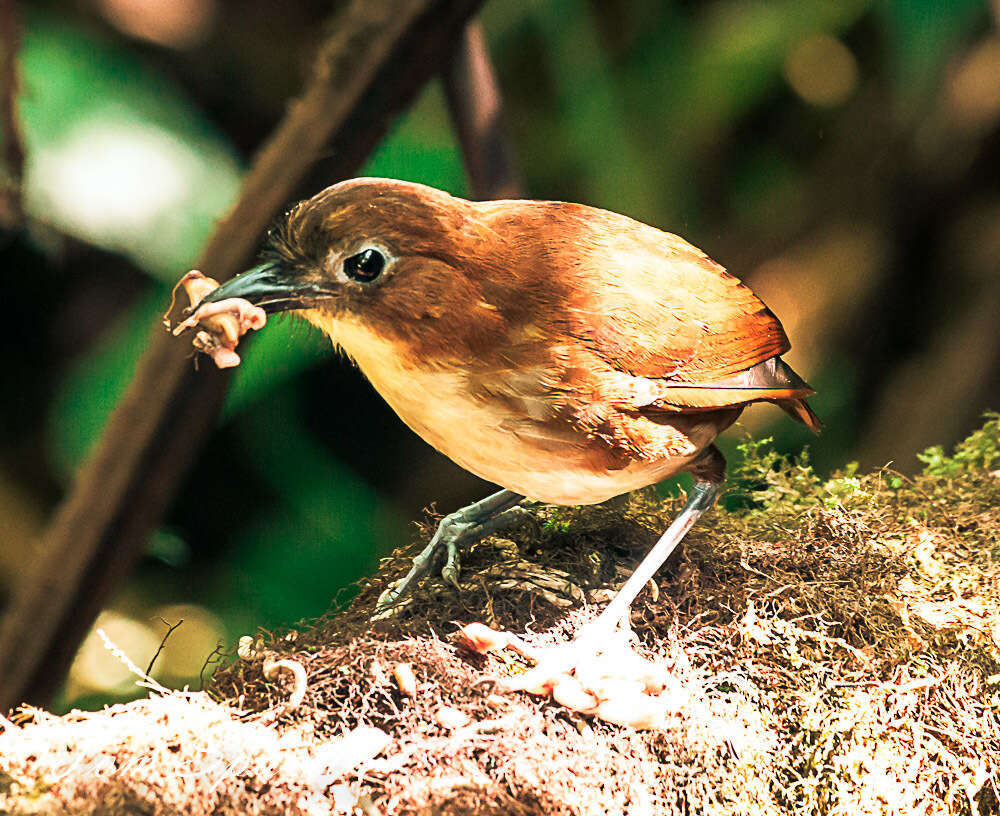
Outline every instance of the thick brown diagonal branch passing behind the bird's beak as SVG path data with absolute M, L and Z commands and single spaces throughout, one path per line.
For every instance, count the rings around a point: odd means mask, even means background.
M 440 68 L 480 0 L 351 0 L 330 20 L 312 79 L 256 156 L 199 260 L 215 278 L 250 259 L 313 162 L 352 175 Z M 0 621 L 0 710 L 45 699 L 109 591 L 134 563 L 218 414 L 228 378 L 195 371 L 157 326 L 132 382 L 39 542 Z

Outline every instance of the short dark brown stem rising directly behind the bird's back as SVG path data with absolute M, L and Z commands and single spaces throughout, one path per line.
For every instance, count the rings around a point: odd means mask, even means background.
M 472 197 L 520 198 L 521 177 L 503 126 L 500 88 L 478 22 L 465 27 L 443 79 Z

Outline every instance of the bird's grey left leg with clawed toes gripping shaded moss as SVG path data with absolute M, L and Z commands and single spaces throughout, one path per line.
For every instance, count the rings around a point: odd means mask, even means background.
M 445 557 L 441 577 L 458 586 L 458 547 L 478 541 L 485 535 L 503 529 L 521 517 L 518 507 L 524 496 L 511 490 L 501 490 L 482 501 L 456 510 L 441 519 L 434 537 L 423 551 L 413 559 L 413 566 L 406 576 L 383 592 L 375 604 L 375 618 L 384 617 L 400 598 L 407 595 L 421 578 L 433 572 Z

